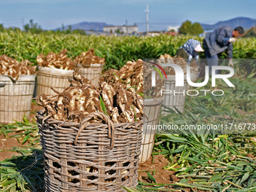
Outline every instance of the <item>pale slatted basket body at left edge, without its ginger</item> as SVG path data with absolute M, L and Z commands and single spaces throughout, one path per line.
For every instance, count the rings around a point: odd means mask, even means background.
M 11 76 L 0 75 L 0 123 L 22 121 L 29 117 L 35 75 L 21 75 L 17 81 Z

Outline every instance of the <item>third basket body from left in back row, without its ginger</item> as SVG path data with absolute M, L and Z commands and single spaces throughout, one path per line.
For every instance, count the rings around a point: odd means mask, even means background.
M 84 78 L 89 79 L 94 86 L 98 86 L 102 68 L 102 64 L 90 64 L 88 67 L 77 64 L 75 71 L 83 75 Z

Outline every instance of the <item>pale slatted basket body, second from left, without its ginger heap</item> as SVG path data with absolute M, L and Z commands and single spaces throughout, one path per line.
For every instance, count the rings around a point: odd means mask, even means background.
M 38 66 L 38 75 L 36 82 L 36 96 L 41 94 L 54 95 L 56 93 L 50 89 L 62 92 L 70 86 L 70 79 L 73 78 L 73 70 L 53 69 L 49 67 Z

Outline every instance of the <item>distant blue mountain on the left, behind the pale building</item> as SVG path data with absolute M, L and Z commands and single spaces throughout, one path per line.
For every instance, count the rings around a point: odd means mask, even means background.
M 72 27 L 72 30 L 74 29 L 84 29 L 84 30 L 90 30 L 93 29 L 93 31 L 103 31 L 104 26 L 113 26 L 113 25 L 108 25 L 107 23 L 102 23 L 102 22 L 82 22 L 82 23 L 77 23 L 74 25 L 70 25 Z M 69 26 L 65 26 L 65 29 L 69 29 Z M 62 28 L 58 28 L 59 30 L 62 30 Z

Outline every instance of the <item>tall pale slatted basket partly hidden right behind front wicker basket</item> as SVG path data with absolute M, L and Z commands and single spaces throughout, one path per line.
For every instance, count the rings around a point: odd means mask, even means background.
M 162 103 L 163 98 L 143 100 L 143 114 L 145 120 L 142 133 L 142 154 L 139 156 L 139 163 L 144 163 L 151 157 L 157 131 L 155 128 L 158 123 Z

